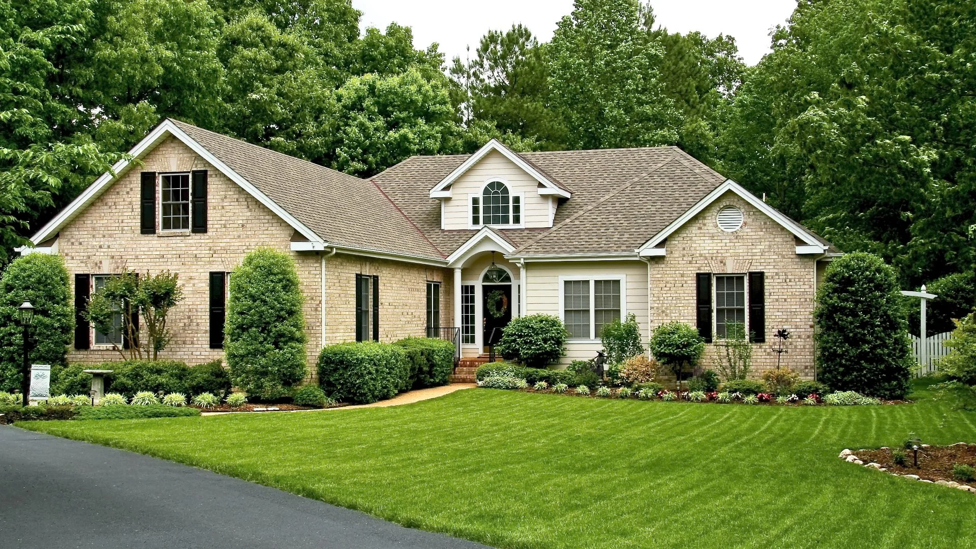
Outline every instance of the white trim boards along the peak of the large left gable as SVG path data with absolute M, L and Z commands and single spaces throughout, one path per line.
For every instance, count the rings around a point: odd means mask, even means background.
M 108 187 L 110 187 L 113 183 L 118 181 L 120 177 L 132 169 L 137 163 L 136 160 L 144 157 L 145 154 L 148 154 L 149 151 L 171 135 L 183 142 L 183 145 L 193 150 L 193 152 L 199 154 L 204 160 L 217 168 L 228 179 L 236 183 L 241 189 L 246 190 L 252 196 L 257 198 L 259 202 L 274 212 L 275 215 L 284 220 L 288 225 L 292 226 L 295 231 L 301 232 L 309 241 L 324 244 L 323 238 L 315 234 L 315 232 L 313 232 L 311 229 L 305 227 L 305 224 L 296 219 L 295 216 L 285 211 L 284 208 L 276 204 L 274 200 L 271 200 L 266 194 L 264 194 L 264 192 L 258 190 L 257 187 L 230 169 L 229 166 L 224 164 L 223 161 L 214 156 L 209 150 L 186 135 L 186 133 L 183 132 L 183 130 L 181 130 L 169 118 L 163 120 L 158 126 L 155 127 L 155 129 L 149 132 L 149 135 L 142 138 L 142 141 L 139 142 L 136 147 L 129 150 L 129 154 L 134 157 L 133 160 L 119 160 L 116 162 L 109 171 L 103 173 L 99 179 L 95 180 L 95 183 L 88 187 L 88 189 L 82 191 L 82 193 L 79 194 L 77 198 L 72 200 L 67 207 L 61 210 L 61 212 L 55 216 L 54 219 L 48 222 L 48 224 L 45 225 L 40 231 L 34 233 L 34 235 L 30 237 L 30 241 L 37 244 L 47 240 L 55 233 L 61 231 L 61 228 L 70 223 L 71 220 L 81 213 L 84 208 L 102 195 L 104 190 L 107 190 Z

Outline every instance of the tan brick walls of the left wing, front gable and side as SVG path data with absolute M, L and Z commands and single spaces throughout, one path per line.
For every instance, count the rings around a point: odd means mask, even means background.
M 294 230 L 176 139 L 170 138 L 154 148 L 142 161 L 142 167 L 105 190 L 61 230 L 59 253 L 71 274 L 118 274 L 126 269 L 150 274 L 169 270 L 179 274 L 183 301 L 171 313 L 173 339 L 161 357 L 188 363 L 223 358 L 223 350 L 209 348 L 210 272 L 233 271 L 248 252 L 260 246 L 288 252 Z M 195 169 L 209 170 L 207 232 L 141 234 L 140 172 Z M 295 259 L 305 296 L 310 379 L 322 343 L 322 252 L 289 253 Z M 380 325 L 384 341 L 424 335 L 427 279 L 445 280 L 441 288 L 441 315 L 442 323 L 449 325 L 450 278 L 443 270 L 337 254 L 326 260 L 328 343 L 355 339 L 355 273 L 380 275 Z M 119 354 L 111 349 L 71 348 L 68 353 L 68 360 L 74 362 L 117 359 Z

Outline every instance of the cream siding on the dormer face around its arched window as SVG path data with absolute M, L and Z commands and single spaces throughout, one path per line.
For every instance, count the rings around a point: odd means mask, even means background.
M 468 229 L 471 221 L 471 194 L 480 195 L 485 183 L 501 178 L 508 184 L 509 193 L 523 193 L 522 222 L 525 228 L 551 227 L 549 196 L 539 194 L 539 182 L 508 160 L 501 152 L 492 150 L 451 185 L 452 198 L 444 198 L 442 209 L 444 229 Z

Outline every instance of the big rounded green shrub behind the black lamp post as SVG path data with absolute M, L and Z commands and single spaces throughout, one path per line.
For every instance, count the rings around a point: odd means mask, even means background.
M 74 330 L 68 274 L 61 256 L 32 253 L 14 260 L 0 279 L 0 391 L 20 389 L 23 363 L 23 327 L 18 308 L 34 306 L 30 361 L 65 364 L 67 345 Z

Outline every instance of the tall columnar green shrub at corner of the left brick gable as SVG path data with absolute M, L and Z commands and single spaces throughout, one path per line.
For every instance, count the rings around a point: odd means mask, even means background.
M 262 248 L 230 276 L 224 345 L 235 387 L 264 400 L 305 377 L 305 317 L 292 259 Z

